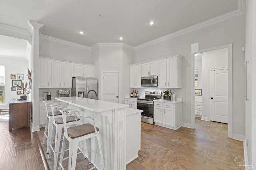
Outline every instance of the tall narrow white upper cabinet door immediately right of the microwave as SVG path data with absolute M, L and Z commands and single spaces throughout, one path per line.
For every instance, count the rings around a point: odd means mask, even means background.
M 166 80 L 166 59 L 164 60 L 158 60 L 157 61 L 157 68 L 158 68 L 158 87 L 165 88 L 167 86 L 167 80 Z

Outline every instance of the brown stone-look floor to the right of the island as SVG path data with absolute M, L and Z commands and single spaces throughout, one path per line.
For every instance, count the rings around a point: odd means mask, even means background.
M 198 117 L 196 129 L 176 131 L 142 122 L 138 154 L 126 170 L 229 170 L 238 169 L 236 156 L 244 158 L 243 142 L 228 138 L 227 124 Z

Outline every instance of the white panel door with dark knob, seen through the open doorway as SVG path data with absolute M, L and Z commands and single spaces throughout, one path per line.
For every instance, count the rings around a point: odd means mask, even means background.
M 228 70 L 210 70 L 210 120 L 228 123 Z

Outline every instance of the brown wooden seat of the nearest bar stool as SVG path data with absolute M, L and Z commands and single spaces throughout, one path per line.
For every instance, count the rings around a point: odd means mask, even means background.
M 99 128 L 96 127 L 97 131 L 99 131 Z M 75 127 L 69 127 L 67 128 L 68 131 L 68 136 L 72 139 L 78 138 L 84 135 L 89 135 L 91 133 L 94 133 L 94 126 L 91 125 L 90 123 L 86 123 L 83 125 L 78 125 Z

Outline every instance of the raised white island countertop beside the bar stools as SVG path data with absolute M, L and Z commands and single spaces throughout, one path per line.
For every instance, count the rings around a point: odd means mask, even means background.
M 94 111 L 94 112 L 103 112 L 110 111 L 115 109 L 122 109 L 129 107 L 126 104 L 118 104 L 113 102 L 105 102 L 102 100 L 94 100 L 88 98 L 80 98 L 80 97 L 64 97 L 64 98 L 55 98 L 56 100 L 60 100 L 64 103 L 77 106 L 86 110 Z

